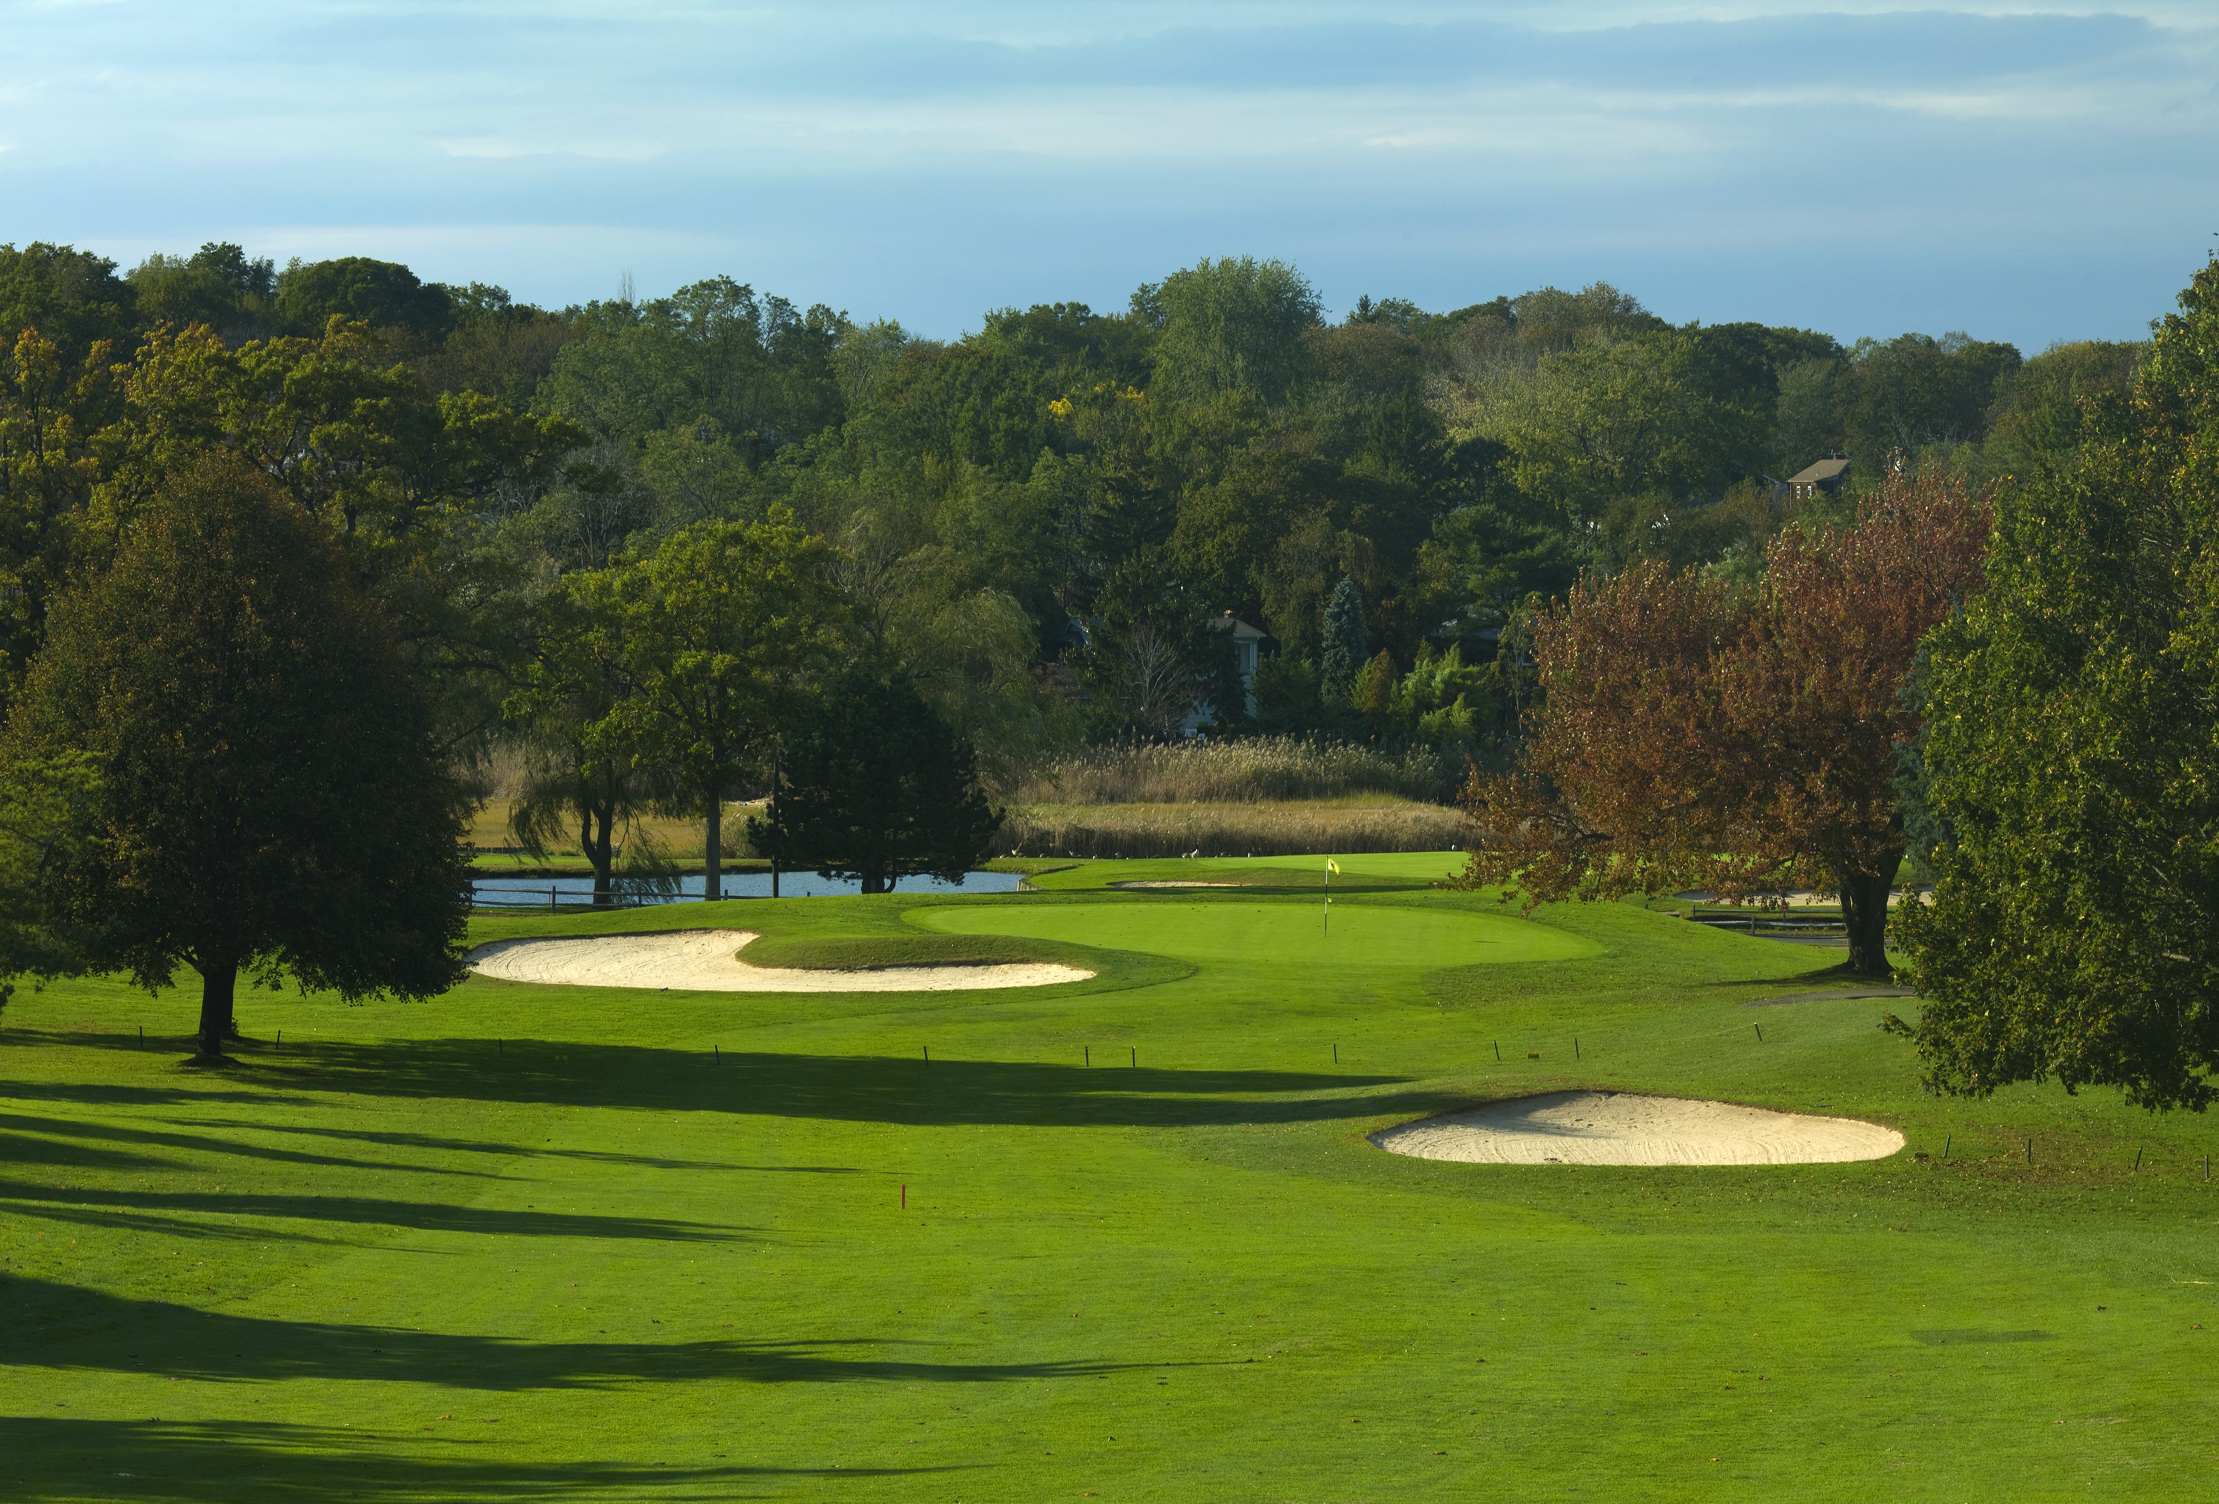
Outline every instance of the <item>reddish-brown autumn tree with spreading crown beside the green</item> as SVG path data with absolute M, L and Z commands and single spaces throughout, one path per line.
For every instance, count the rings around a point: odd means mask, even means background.
M 1522 765 L 1462 790 L 1460 883 L 1529 903 L 1835 890 L 1848 965 L 1886 972 L 1895 743 L 1917 728 L 1899 690 L 1979 590 L 1986 537 L 1986 499 L 1924 472 L 1846 528 L 1782 532 L 1751 592 L 1664 563 L 1580 581 L 1533 626 Z

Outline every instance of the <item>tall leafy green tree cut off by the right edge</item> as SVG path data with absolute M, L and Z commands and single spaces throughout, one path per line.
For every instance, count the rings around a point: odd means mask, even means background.
M 1926 1083 L 2219 1100 L 2219 262 L 1928 643 L 1931 903 L 1897 943 Z

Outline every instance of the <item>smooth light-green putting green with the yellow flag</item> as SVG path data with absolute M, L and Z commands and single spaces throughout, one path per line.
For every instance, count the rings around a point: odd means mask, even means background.
M 1600 947 L 1507 914 L 1440 907 L 1336 903 L 1145 903 L 979 905 L 912 909 L 910 921 L 945 934 L 1010 934 L 1103 949 L 1138 949 L 1205 965 L 1394 967 L 1433 972 L 1489 961 L 1569 961 Z

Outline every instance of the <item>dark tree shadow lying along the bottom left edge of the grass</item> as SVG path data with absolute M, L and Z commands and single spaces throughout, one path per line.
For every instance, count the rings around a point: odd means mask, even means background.
M 473 1435 L 475 1431 L 475 1435 Z M 395 1455 L 406 1444 L 424 1455 Z M 255 1422 L 0 1420 L 0 1477 L 11 1500 L 604 1500 L 624 1491 L 670 1497 L 761 1497 L 750 1480 L 910 1477 L 956 1469 L 766 1469 L 701 1462 L 721 1440 L 672 1442 L 681 1466 L 550 1462 L 539 1446 L 506 1444 L 497 1426 L 450 1422 L 430 1435 L 379 1437 L 366 1429 Z M 741 1451 L 732 1442 L 728 1451 Z M 521 1453 L 521 1455 L 519 1455 Z M 783 1488 L 779 1488 L 783 1493 Z M 681 1495 L 683 1497 L 683 1495 Z

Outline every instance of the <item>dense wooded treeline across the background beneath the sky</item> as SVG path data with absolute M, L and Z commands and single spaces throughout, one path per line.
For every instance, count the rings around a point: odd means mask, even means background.
M 1602 284 L 1327 324 L 1247 257 L 939 342 L 726 277 L 553 311 L 366 257 L 33 244 L 0 248 L 0 319 L 9 681 L 164 466 L 224 446 L 344 539 L 457 754 L 504 730 L 564 577 L 790 517 L 1003 785 L 1196 719 L 1500 750 L 1531 612 L 1582 570 L 1746 583 L 1895 466 L 2053 466 L 2144 357 L 1673 326 Z M 1826 455 L 1848 486 L 1791 499 Z M 1269 632 L 1254 717 L 1227 612 Z

